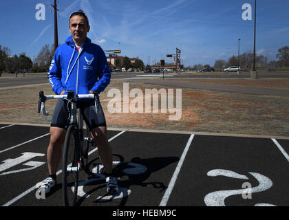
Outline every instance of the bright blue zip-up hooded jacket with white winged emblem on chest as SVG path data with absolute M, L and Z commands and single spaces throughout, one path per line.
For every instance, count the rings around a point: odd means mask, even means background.
M 105 52 L 88 38 L 81 47 L 78 53 L 72 36 L 57 47 L 47 74 L 55 94 L 63 90 L 89 94 L 89 90 L 95 89 L 100 94 L 109 85 L 111 73 Z

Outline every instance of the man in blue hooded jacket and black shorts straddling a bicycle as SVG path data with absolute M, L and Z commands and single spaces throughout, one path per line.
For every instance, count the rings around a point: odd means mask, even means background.
M 103 50 L 87 38 L 89 22 L 82 10 L 69 16 L 69 36 L 63 45 L 57 47 L 52 60 L 48 79 L 56 94 L 65 94 L 73 90 L 75 94 L 89 94 L 96 89 L 98 94 L 110 83 L 110 71 Z M 100 106 L 96 113 L 93 101 L 78 103 L 83 118 L 98 145 L 98 153 L 105 168 L 107 192 L 118 192 L 118 184 L 112 173 L 112 151 L 107 140 L 105 115 Z M 56 169 L 61 160 L 61 148 L 67 129 L 67 103 L 58 99 L 50 126 L 50 144 L 47 148 L 47 164 L 50 177 L 43 181 L 45 192 L 56 184 Z

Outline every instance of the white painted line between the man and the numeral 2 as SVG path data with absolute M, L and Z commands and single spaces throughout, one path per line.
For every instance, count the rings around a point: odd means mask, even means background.
M 169 186 L 168 186 L 166 192 L 164 192 L 164 196 L 162 197 L 162 201 L 160 201 L 160 206 L 167 206 L 169 196 L 171 195 L 171 191 L 173 190 L 173 186 L 175 186 L 175 181 L 178 178 L 178 175 L 180 173 L 180 169 L 182 168 L 182 164 L 184 162 L 184 158 L 186 157 L 186 153 L 188 153 L 188 151 L 189 151 L 189 147 L 191 146 L 191 142 L 193 141 L 194 136 L 195 136 L 194 134 L 191 134 L 189 141 L 186 143 L 186 147 L 184 148 L 184 152 L 182 153 L 180 161 L 178 162 L 178 166 L 175 168 L 175 172 L 173 173 L 173 177 L 171 177 L 171 181 L 169 183 Z

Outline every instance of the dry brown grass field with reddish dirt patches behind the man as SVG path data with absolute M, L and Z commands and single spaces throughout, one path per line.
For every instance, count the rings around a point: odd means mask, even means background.
M 202 83 L 274 87 L 289 89 L 288 79 L 192 79 Z M 186 81 L 188 81 L 186 79 Z M 289 137 L 289 98 L 260 96 L 201 89 L 182 89 L 182 118 L 169 120 L 173 113 L 110 113 L 107 104 L 109 89 L 122 92 L 125 80 L 111 80 L 100 94 L 108 127 L 122 129 L 161 129 L 211 133 L 253 134 Z M 175 89 L 144 83 L 129 83 L 129 89 Z M 52 94 L 50 85 L 0 90 L 0 122 L 50 124 L 55 100 L 46 103 L 50 115 L 36 113 L 39 91 Z M 23 98 L 25 94 L 25 98 Z M 122 93 L 121 93 L 122 94 Z M 129 98 L 129 103 L 134 98 Z M 121 103 L 123 104 L 123 96 Z M 160 104 L 160 99 L 159 99 Z M 175 104 L 175 99 L 174 99 Z

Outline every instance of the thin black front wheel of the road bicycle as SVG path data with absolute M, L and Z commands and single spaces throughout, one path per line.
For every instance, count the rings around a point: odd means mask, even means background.
M 75 206 L 77 201 L 79 171 L 79 139 L 76 127 L 67 129 L 63 147 L 63 202 L 65 206 Z

